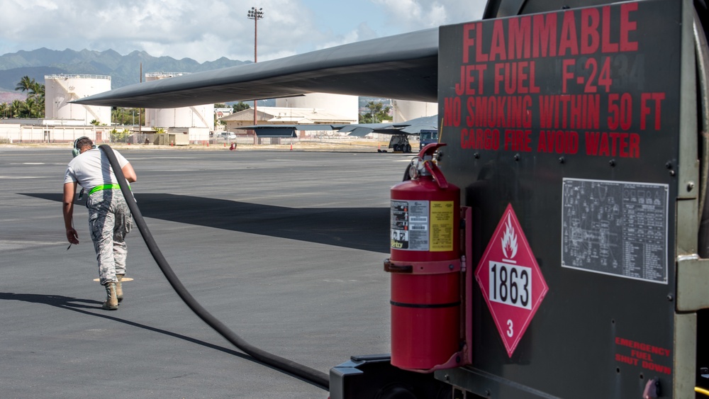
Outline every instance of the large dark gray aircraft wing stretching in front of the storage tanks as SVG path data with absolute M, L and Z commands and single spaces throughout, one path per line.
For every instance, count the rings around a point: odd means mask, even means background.
M 177 108 L 333 93 L 437 102 L 438 28 L 133 84 L 72 101 Z

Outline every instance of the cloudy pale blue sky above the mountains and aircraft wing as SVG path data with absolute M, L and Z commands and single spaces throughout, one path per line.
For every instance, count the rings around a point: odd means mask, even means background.
M 252 6 L 262 8 L 258 59 L 474 21 L 485 0 L 3 0 L 0 54 L 113 49 L 199 62 L 253 60 Z

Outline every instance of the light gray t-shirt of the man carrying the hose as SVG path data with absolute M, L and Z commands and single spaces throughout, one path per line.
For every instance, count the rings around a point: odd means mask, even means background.
M 118 159 L 121 169 L 128 164 L 128 159 L 125 159 L 120 152 L 113 150 L 113 154 L 116 154 L 116 159 Z M 91 190 L 101 184 L 118 184 L 118 179 L 116 179 L 116 175 L 111 170 L 108 157 L 98 148 L 85 151 L 72 159 L 72 162 L 69 162 L 67 173 L 64 176 L 64 183 L 67 184 L 74 181 L 86 190 Z

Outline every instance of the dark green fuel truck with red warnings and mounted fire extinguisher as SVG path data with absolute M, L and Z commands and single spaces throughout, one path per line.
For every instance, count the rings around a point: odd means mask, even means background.
M 391 189 L 391 354 L 330 397 L 709 398 L 704 1 L 491 0 L 439 30 Z

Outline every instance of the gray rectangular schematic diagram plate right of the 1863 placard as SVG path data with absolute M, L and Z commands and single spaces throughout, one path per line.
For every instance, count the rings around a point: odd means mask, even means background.
M 564 179 L 562 195 L 562 267 L 667 283 L 667 184 Z

